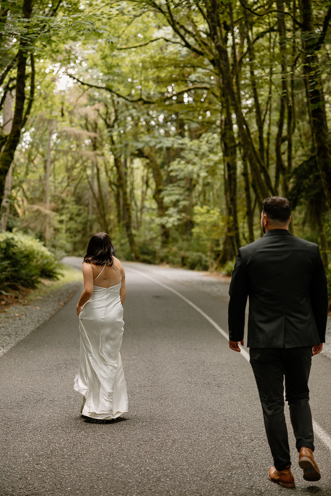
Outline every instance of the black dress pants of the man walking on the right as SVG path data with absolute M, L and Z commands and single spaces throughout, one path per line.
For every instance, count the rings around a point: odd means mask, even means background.
M 296 448 L 300 451 L 300 448 L 305 446 L 314 451 L 308 389 L 312 346 L 251 348 L 250 362 L 259 390 L 274 466 L 277 470 L 284 470 L 291 465 L 284 416 L 284 376 L 285 399 L 289 405 Z

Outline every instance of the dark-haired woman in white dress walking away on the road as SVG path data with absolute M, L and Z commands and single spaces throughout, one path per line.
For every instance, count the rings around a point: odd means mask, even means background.
M 115 419 L 128 411 L 120 348 L 125 272 L 108 234 L 90 239 L 83 261 L 84 289 L 77 303 L 80 360 L 74 388 L 83 395 L 80 412 L 93 419 Z

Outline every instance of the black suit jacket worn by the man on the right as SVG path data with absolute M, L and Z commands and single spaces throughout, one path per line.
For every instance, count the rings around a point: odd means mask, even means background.
M 267 231 L 240 248 L 232 273 L 229 338 L 252 348 L 294 348 L 325 342 L 328 289 L 317 245 L 286 229 Z

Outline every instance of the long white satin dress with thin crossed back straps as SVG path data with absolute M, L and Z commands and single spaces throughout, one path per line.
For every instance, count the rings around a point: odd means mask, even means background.
M 120 282 L 110 288 L 93 286 L 91 298 L 79 313 L 80 359 L 74 389 L 84 396 L 81 413 L 93 419 L 116 419 L 128 411 L 120 355 L 124 330 L 121 282 L 120 276 Z

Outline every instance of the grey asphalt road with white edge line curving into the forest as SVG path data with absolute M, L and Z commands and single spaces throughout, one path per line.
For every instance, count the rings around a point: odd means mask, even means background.
M 197 310 L 137 270 L 227 329 L 227 305 L 220 299 L 167 279 L 164 269 L 127 264 L 121 355 L 129 413 L 94 421 L 80 415 L 81 398 L 73 390 L 77 294 L 0 357 L 0 496 L 293 491 L 267 480 L 272 459 L 249 363 Z M 313 358 L 310 389 L 313 417 L 331 435 L 327 357 Z M 330 449 L 316 439 L 322 479 L 305 482 L 288 427 L 295 494 L 330 496 Z

